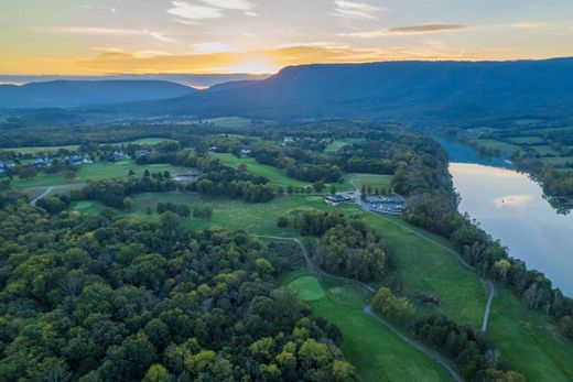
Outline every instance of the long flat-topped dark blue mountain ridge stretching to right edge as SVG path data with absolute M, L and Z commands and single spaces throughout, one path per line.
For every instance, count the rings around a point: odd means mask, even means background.
M 83 111 L 281 121 L 344 118 L 435 125 L 523 117 L 549 120 L 571 116 L 572 110 L 573 58 L 559 58 L 293 66 L 263 80 L 226 83 L 182 97 Z

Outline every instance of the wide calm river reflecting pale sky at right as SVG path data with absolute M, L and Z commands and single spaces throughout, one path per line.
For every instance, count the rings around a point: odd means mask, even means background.
M 440 143 L 450 153 L 450 173 L 462 197 L 460 211 L 499 239 L 510 255 L 573 296 L 573 215 L 558 214 L 541 186 L 504 159 L 484 160 L 471 148 Z

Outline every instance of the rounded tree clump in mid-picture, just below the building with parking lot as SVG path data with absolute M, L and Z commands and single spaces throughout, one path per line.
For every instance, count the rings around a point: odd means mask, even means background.
M 312 245 L 312 260 L 325 272 L 359 281 L 382 277 L 386 245 L 364 220 L 335 212 L 303 212 L 293 227 L 303 236 L 320 237 Z

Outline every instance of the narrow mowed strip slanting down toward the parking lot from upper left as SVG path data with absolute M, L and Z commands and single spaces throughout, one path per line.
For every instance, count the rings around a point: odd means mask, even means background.
M 246 157 L 246 156 L 237 157 L 233 154 L 214 154 L 214 156 L 220 159 L 220 161 L 224 164 L 235 167 L 235 168 L 237 168 L 240 164 L 246 164 L 247 172 L 249 172 L 252 175 L 263 176 L 277 186 L 306 187 L 306 186 L 312 185 L 311 183 L 302 182 L 302 181 L 295 179 L 293 177 L 290 177 L 289 175 L 286 175 L 285 171 L 282 168 L 277 168 L 277 167 L 269 166 L 266 164 L 260 164 L 252 157 Z M 336 187 L 336 190 L 338 190 L 338 192 L 352 189 L 352 186 L 346 182 L 335 183 L 334 186 Z M 327 184 L 325 186 L 324 190 L 329 192 L 329 189 L 331 189 L 331 184 Z

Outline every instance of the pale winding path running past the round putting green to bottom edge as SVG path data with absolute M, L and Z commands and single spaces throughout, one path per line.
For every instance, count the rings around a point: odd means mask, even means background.
M 355 283 L 357 285 L 360 285 L 363 286 L 364 288 L 366 288 L 368 292 L 370 293 L 375 293 L 376 290 L 374 287 L 371 287 L 370 285 L 366 284 L 366 283 L 363 283 L 358 280 L 354 280 L 354 279 L 347 279 L 347 277 L 343 277 L 343 276 L 336 276 L 336 275 L 333 275 L 333 274 L 329 274 L 329 273 L 326 273 L 324 271 L 322 271 L 318 266 L 316 266 L 316 264 L 314 264 L 314 262 L 312 261 L 311 257 L 309 255 L 309 251 L 306 251 L 306 247 L 304 247 L 304 244 L 302 243 L 302 241 L 299 239 L 299 238 L 283 238 L 283 237 L 278 237 L 278 236 L 264 236 L 264 234 L 260 234 L 259 238 L 266 238 L 266 239 L 271 239 L 271 240 L 284 240 L 284 241 L 292 241 L 292 242 L 295 242 L 299 248 L 301 249 L 301 252 L 302 254 L 304 255 L 304 259 L 306 260 L 306 263 L 309 264 L 309 266 L 315 271 L 316 273 L 318 274 L 322 274 L 322 275 L 325 275 L 325 276 L 328 276 L 328 277 L 334 277 L 334 279 L 337 279 L 337 280 L 342 280 L 342 281 L 345 281 L 345 282 L 349 282 L 349 283 Z M 374 318 L 376 318 L 380 324 L 382 324 L 383 326 L 386 326 L 388 329 L 390 329 L 393 334 L 396 334 L 398 337 L 400 337 L 402 340 L 404 340 L 407 343 L 413 346 L 414 348 L 417 348 L 419 351 L 423 352 L 424 354 L 426 354 L 428 357 L 432 358 L 433 360 L 435 360 L 439 364 L 441 364 L 451 375 L 452 378 L 457 381 L 457 382 L 463 382 L 463 379 L 462 376 L 455 371 L 454 368 L 451 367 L 451 364 L 448 363 L 447 359 L 442 357 L 441 354 L 439 354 L 437 352 L 429 349 L 428 347 L 425 347 L 424 345 L 422 345 L 421 342 L 418 342 L 411 338 L 409 338 L 408 336 L 406 336 L 404 334 L 402 334 L 400 330 L 398 330 L 393 325 L 391 325 L 390 323 L 388 323 L 387 320 L 385 320 L 383 318 L 379 317 L 377 314 L 375 314 L 371 308 L 370 308 L 370 305 L 366 306 L 364 308 L 364 313 L 365 314 L 368 314 L 370 316 L 372 316 Z

